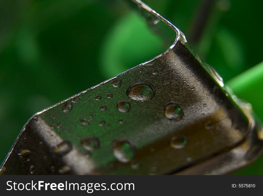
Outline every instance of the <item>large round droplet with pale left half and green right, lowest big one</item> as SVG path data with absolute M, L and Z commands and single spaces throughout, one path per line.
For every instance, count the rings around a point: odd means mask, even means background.
M 115 158 L 122 163 L 129 162 L 135 155 L 136 148 L 129 140 L 117 139 L 112 145 Z

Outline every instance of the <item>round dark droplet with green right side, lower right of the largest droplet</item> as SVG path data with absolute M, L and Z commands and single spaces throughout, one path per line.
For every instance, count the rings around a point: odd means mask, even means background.
M 168 119 L 175 121 L 180 121 L 184 116 L 181 107 L 174 102 L 169 102 L 165 105 L 164 114 Z

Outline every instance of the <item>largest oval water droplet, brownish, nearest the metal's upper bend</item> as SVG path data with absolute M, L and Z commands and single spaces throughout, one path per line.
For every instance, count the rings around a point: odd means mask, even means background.
M 149 101 L 154 97 L 155 93 L 152 85 L 147 83 L 138 83 L 129 87 L 127 95 L 135 101 Z

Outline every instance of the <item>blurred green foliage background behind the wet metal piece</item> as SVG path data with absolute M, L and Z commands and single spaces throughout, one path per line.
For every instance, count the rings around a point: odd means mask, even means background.
M 263 119 L 263 64 L 230 81 L 263 60 L 263 1 L 145 2 Z M 34 113 L 166 49 L 123 1 L 1 0 L 0 162 Z M 263 175 L 263 157 L 234 174 Z

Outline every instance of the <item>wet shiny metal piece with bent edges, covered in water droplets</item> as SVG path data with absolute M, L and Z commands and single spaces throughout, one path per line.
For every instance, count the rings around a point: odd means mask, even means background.
M 180 30 L 134 2 L 160 35 L 169 28 L 172 46 L 34 115 L 1 174 L 225 174 L 260 154 L 262 128 L 222 78 Z

